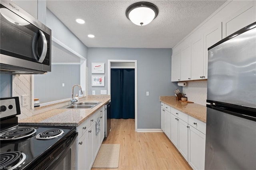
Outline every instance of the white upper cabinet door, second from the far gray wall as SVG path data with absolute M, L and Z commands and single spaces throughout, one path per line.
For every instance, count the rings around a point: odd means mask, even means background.
M 181 49 L 180 54 L 180 79 L 181 81 L 191 80 L 191 44 L 187 43 Z

